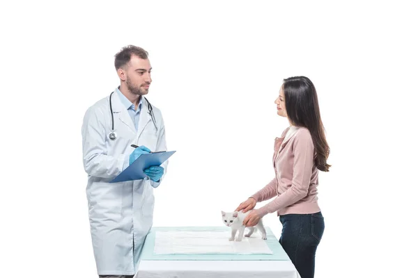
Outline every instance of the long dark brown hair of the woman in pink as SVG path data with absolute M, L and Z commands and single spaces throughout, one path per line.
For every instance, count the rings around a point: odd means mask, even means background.
M 295 126 L 304 126 L 311 133 L 315 147 L 315 164 L 318 170 L 328 172 L 330 147 L 325 138 L 325 129 L 320 119 L 318 96 L 314 83 L 305 76 L 284 79 L 284 101 L 289 121 Z

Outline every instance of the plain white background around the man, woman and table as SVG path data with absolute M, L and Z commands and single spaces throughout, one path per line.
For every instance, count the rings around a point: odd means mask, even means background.
M 127 44 L 150 54 L 148 99 L 177 151 L 155 226 L 222 225 L 274 177 L 274 99 L 304 75 L 331 147 L 316 277 L 416 274 L 416 8 L 287 2 L 2 2 L 0 276 L 96 277 L 82 118 L 118 85 Z

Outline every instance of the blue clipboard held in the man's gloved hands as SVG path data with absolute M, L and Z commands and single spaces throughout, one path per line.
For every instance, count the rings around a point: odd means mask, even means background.
M 120 181 L 134 181 L 137 179 L 145 179 L 147 175 L 144 170 L 150 166 L 160 166 L 167 161 L 176 151 L 171 152 L 155 152 L 150 154 L 141 154 L 131 165 L 129 165 L 121 174 L 118 174 L 109 183 Z

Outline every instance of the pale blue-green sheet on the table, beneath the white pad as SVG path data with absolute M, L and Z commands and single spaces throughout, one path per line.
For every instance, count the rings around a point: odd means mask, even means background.
M 267 243 L 273 254 L 154 254 L 155 234 L 157 231 L 231 231 L 229 227 L 153 227 L 141 250 L 141 261 L 290 261 L 276 236 L 269 227 Z M 256 231 L 255 233 L 258 233 Z M 228 238 L 225 238 L 228 240 Z

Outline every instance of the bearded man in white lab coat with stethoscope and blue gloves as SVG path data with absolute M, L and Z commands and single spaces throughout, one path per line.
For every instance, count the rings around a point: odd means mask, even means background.
M 153 190 L 164 178 L 167 161 L 146 169 L 146 179 L 109 181 L 141 154 L 167 147 L 162 114 L 145 97 L 152 81 L 148 52 L 123 47 L 114 65 L 121 85 L 87 109 L 82 145 L 98 275 L 123 278 L 137 272 L 139 253 L 153 224 Z

